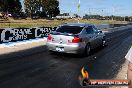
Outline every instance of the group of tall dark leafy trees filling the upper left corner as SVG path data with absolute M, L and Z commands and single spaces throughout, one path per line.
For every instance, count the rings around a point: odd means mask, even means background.
M 0 12 L 10 13 L 14 17 L 52 18 L 60 10 L 58 0 L 24 0 L 24 10 L 20 0 L 0 0 Z

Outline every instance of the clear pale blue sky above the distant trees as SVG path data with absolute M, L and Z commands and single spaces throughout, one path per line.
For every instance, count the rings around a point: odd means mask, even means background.
M 79 0 L 59 0 L 61 13 L 94 15 L 132 16 L 132 0 L 80 0 L 80 10 L 77 5 Z M 21 0 L 23 4 L 23 0 Z

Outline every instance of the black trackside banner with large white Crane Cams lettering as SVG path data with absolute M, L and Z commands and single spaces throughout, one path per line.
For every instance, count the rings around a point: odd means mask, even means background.
M 0 29 L 0 43 L 47 37 L 57 27 Z

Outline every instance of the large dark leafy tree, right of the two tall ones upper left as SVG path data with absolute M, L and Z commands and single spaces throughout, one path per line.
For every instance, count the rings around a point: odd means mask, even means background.
M 24 6 L 26 13 L 30 17 L 38 13 L 41 13 L 41 16 L 44 14 L 48 17 L 55 17 L 60 13 L 57 0 L 25 0 Z

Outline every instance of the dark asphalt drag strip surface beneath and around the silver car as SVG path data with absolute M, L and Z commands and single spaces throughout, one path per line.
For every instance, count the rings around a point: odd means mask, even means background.
M 106 39 L 108 46 L 88 57 L 52 54 L 43 47 L 39 53 L 2 59 L 0 88 L 81 88 L 78 76 L 83 66 L 91 79 L 114 79 L 132 45 L 132 29 L 108 33 Z

